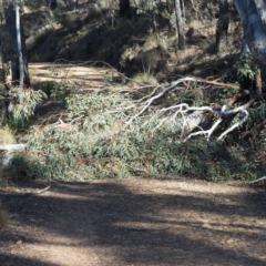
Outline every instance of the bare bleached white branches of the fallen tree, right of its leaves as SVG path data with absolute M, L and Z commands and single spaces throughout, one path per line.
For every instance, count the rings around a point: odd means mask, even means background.
M 186 85 L 187 82 L 201 82 L 201 83 L 206 83 L 206 84 L 212 84 L 212 85 L 221 85 L 221 86 L 226 86 L 231 89 L 239 89 L 238 86 L 234 86 L 231 84 L 225 84 L 216 81 L 208 81 L 204 79 L 197 79 L 197 78 L 182 78 L 175 82 L 173 82 L 171 85 L 167 85 L 163 88 L 161 92 L 158 92 L 155 95 L 151 95 L 150 99 L 146 101 L 135 104 L 133 108 L 136 109 L 136 113 L 131 116 L 125 123 L 126 125 L 130 125 L 133 123 L 134 120 L 143 115 L 143 113 L 154 103 L 155 100 L 164 96 L 166 93 L 168 93 L 171 90 L 176 88 L 180 84 Z M 231 98 L 228 100 L 229 104 L 235 103 L 239 99 L 248 95 L 248 91 L 241 92 L 236 94 L 235 96 Z M 187 141 L 192 136 L 196 135 L 205 135 L 206 139 L 208 140 L 211 135 L 214 133 L 214 131 L 217 129 L 217 126 L 221 124 L 221 122 L 228 115 L 232 114 L 241 114 L 239 121 L 234 123 L 232 126 L 229 126 L 227 130 L 225 130 L 218 137 L 217 140 L 221 141 L 223 140 L 229 132 L 235 130 L 236 127 L 241 126 L 243 123 L 246 122 L 248 117 L 248 112 L 247 109 L 256 101 L 256 99 L 249 100 L 246 104 L 232 109 L 232 110 L 226 110 L 226 105 L 224 105 L 221 111 L 219 110 L 214 110 L 211 106 L 188 106 L 186 103 L 180 103 L 176 105 L 172 105 L 170 108 L 164 108 L 158 110 L 154 115 L 150 117 L 150 120 L 144 123 L 146 125 L 147 123 L 151 123 L 156 121 L 156 125 L 152 130 L 152 132 L 156 131 L 161 126 L 165 124 L 173 124 L 173 127 L 175 127 L 175 131 L 178 129 L 182 134 L 183 133 L 188 133 L 188 135 L 183 140 Z M 201 123 L 203 122 L 203 117 L 205 113 L 211 113 L 213 114 L 212 116 L 216 115 L 218 116 L 217 120 L 213 123 L 211 129 L 204 130 L 201 127 Z M 192 132 L 194 129 L 198 129 L 197 132 Z M 191 133 L 190 133 L 191 132 Z

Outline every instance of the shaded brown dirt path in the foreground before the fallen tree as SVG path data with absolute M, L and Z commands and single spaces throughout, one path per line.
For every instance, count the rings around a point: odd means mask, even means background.
M 2 266 L 266 265 L 265 191 L 129 178 L 0 193 L 13 215 L 0 231 Z

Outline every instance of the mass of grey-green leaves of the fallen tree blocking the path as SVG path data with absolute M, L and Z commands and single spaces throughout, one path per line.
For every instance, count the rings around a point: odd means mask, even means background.
M 134 114 L 124 106 L 130 98 L 109 91 L 72 94 L 66 99 L 63 121 L 74 119 L 69 130 L 57 125 L 32 129 L 21 139 L 29 152 L 12 161 L 13 174 L 21 176 L 93 180 L 132 175 L 188 175 L 211 181 L 250 178 L 259 165 L 241 160 L 241 150 L 205 139 L 174 141 L 172 123 L 151 134 L 158 120 L 145 115 L 131 125 L 123 121 Z

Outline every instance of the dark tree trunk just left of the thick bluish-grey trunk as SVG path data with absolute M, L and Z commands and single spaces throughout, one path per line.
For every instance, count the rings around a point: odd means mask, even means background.
M 216 28 L 216 50 L 223 52 L 227 47 L 227 32 L 229 24 L 229 8 L 227 0 L 219 0 L 219 17 Z

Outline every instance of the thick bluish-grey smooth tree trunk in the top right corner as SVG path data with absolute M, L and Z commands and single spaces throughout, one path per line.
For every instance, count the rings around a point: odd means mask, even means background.
M 234 0 L 244 29 L 243 53 L 266 53 L 266 31 L 263 24 L 266 12 L 264 2 L 262 0 Z

